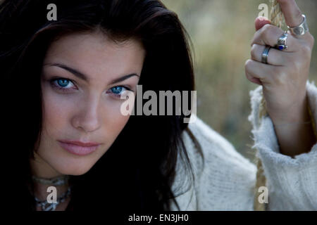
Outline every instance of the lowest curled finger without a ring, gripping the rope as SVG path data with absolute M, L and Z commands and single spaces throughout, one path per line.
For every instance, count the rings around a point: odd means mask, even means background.
M 262 84 L 271 82 L 271 74 L 275 73 L 276 68 L 279 67 L 275 65 L 259 63 L 255 60 L 247 60 L 245 63 L 246 75 L 249 76 L 250 79 L 259 79 Z

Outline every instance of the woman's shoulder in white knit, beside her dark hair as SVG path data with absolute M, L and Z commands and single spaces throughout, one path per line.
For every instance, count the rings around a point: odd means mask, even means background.
M 203 168 L 194 182 L 197 210 L 252 210 L 256 166 L 235 150 L 232 144 L 197 118 L 188 130 L 201 146 L 204 167 L 191 134 L 183 141 L 193 167 Z M 184 200 L 183 200 L 184 201 Z

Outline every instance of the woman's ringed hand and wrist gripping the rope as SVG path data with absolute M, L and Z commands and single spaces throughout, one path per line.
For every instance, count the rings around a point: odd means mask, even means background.
M 303 22 L 302 12 L 294 0 L 278 0 L 278 2 L 288 26 L 296 27 Z M 287 155 L 296 155 L 306 152 L 306 148 L 310 150 L 311 143 L 314 141 L 311 138 L 308 146 L 304 147 L 298 143 L 294 146 L 297 149 L 288 150 L 292 141 L 287 144 L 287 139 L 296 139 L 299 130 L 300 132 L 304 129 L 306 132 L 312 131 L 299 123 L 310 120 L 307 110 L 306 81 L 309 77 L 314 39 L 309 32 L 302 36 L 294 36 L 288 32 L 286 42 L 288 48 L 283 51 L 272 48 L 268 53 L 268 64 L 261 63 L 265 47 L 274 47 L 282 34 L 283 30 L 271 25 L 269 20 L 256 18 L 256 33 L 251 42 L 251 60 L 247 60 L 245 71 L 247 79 L 263 86 L 266 111 L 275 124 L 275 130 L 279 133 L 278 139 L 282 150 Z M 294 125 L 292 128 L 287 127 L 288 130 L 286 130 L 279 127 L 279 124 Z M 297 141 L 309 140 L 300 138 Z M 302 147 L 305 149 L 298 149 Z

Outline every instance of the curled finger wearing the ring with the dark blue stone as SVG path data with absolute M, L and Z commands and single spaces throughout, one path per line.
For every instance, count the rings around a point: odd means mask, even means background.
M 264 27 L 254 34 L 254 38 L 251 41 L 251 46 L 253 44 L 259 44 L 275 47 L 275 45 L 278 43 L 278 39 L 283 33 L 284 32 L 278 27 L 273 25 L 264 25 Z M 301 48 L 299 40 L 290 34 L 287 37 L 286 45 L 288 48 L 283 51 L 294 52 Z

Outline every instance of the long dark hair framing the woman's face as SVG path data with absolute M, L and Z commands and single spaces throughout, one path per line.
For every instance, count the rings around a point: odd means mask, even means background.
M 57 6 L 56 21 L 46 18 L 51 3 Z M 29 190 L 27 184 L 32 184 L 29 159 L 34 158 L 42 130 L 40 75 L 46 50 L 61 35 L 96 29 L 118 43 L 130 38 L 142 41 L 147 52 L 139 80 L 143 91 L 194 90 L 192 42 L 178 15 L 159 0 L 1 1 L 3 128 L 10 143 L 5 151 L 10 160 L 6 195 L 19 210 L 35 210 L 33 186 Z M 172 190 L 178 160 L 186 165 L 191 184 L 194 181 L 182 141 L 183 131 L 190 134 L 184 117 L 131 116 L 89 172 L 70 176 L 68 209 L 170 210 L 171 201 L 178 206 L 176 195 L 189 190 L 183 184 Z

